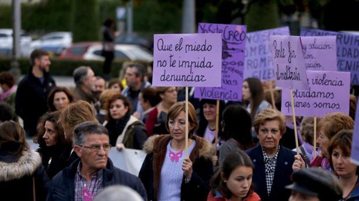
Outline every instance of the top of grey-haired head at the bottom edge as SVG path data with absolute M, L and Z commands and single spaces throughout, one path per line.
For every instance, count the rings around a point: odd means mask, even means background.
M 115 185 L 103 189 L 93 201 L 143 201 L 143 198 L 134 189 Z

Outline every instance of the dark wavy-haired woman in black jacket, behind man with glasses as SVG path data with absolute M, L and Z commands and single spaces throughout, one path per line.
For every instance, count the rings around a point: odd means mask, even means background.
M 72 150 L 71 141 L 65 140 L 65 133 L 58 123 L 61 111 L 45 113 L 39 120 L 40 130 L 34 137 L 39 144 L 42 165 L 50 179 L 66 167 L 65 161 Z

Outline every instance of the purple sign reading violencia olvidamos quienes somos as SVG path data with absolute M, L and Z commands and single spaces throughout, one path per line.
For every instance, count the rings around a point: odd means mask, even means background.
M 307 70 L 309 90 L 293 89 L 297 116 L 323 117 L 326 113 L 349 114 L 350 73 Z M 281 113 L 292 115 L 289 89 L 282 89 Z

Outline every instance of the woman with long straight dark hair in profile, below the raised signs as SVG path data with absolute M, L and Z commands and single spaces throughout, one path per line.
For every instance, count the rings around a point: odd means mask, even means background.
M 251 115 L 252 122 L 258 113 L 266 108 L 272 108 L 264 99 L 264 90 L 258 78 L 247 78 L 243 81 L 242 100 L 248 101 L 247 111 Z

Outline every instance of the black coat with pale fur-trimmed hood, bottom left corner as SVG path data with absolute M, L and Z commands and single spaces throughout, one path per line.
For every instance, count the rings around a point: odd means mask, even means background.
M 47 177 L 36 151 L 24 151 L 21 156 L 0 151 L 0 200 L 33 201 L 33 179 L 36 201 L 46 200 Z

